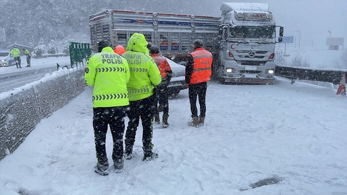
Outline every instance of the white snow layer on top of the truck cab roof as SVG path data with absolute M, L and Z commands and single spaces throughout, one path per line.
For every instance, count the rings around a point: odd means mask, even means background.
M 222 11 L 245 10 L 245 11 L 269 11 L 268 3 L 254 2 L 223 2 Z

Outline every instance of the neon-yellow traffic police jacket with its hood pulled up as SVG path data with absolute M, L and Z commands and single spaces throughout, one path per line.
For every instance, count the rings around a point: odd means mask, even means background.
M 128 61 L 130 80 L 129 101 L 136 101 L 153 95 L 155 85 L 161 82 L 161 76 L 154 60 L 148 54 L 148 42 L 143 34 L 133 34 L 122 56 Z

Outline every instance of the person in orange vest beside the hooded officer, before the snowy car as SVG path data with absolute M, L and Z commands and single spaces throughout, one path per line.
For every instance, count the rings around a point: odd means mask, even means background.
M 159 124 L 159 111 L 157 101 L 159 100 L 159 104 L 163 105 L 163 117 L 162 117 L 162 127 L 166 128 L 169 126 L 167 119 L 169 117 L 169 101 L 168 101 L 168 93 L 167 93 L 167 85 L 172 77 L 172 70 L 167 62 L 166 58 L 159 56 L 159 47 L 156 45 L 152 45 L 150 47 L 150 54 L 158 67 L 161 75 L 161 82 L 156 85 L 156 97 L 155 100 L 155 112 L 154 112 L 154 123 Z

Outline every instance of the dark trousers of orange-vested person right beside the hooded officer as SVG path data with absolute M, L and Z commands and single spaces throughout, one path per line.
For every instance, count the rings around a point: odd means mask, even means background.
M 163 116 L 168 116 L 169 115 L 169 99 L 168 99 L 168 94 L 167 94 L 167 84 L 160 84 L 156 86 L 155 90 L 155 96 L 156 100 L 154 103 L 155 106 L 155 115 L 159 115 L 158 111 L 158 104 L 162 105 L 163 107 Z

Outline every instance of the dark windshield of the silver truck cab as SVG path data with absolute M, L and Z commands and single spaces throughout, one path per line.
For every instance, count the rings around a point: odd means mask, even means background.
M 231 38 L 273 39 L 275 26 L 235 26 L 230 28 Z

